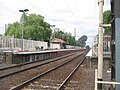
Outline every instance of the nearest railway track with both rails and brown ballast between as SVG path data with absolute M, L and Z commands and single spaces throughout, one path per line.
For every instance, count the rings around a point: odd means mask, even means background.
M 32 79 L 11 88 L 11 90 L 63 90 L 66 82 L 69 81 L 70 77 L 84 61 L 86 53 L 79 54 L 75 58 L 60 63 Z

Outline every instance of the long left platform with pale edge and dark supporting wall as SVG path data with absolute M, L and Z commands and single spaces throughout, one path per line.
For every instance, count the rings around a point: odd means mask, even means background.
M 85 49 L 56 49 L 43 51 L 18 51 L 18 52 L 2 52 L 0 53 L 1 63 L 20 64 L 37 60 L 46 60 L 60 57 L 66 54 L 84 51 Z

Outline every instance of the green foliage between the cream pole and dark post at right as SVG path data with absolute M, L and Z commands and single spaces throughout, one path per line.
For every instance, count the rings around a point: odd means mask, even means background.
M 103 13 L 103 23 L 104 23 L 104 24 L 110 24 L 110 19 L 111 19 L 111 18 L 110 18 L 110 15 L 111 15 L 110 10 L 105 11 L 105 12 Z M 110 32 L 111 32 L 110 27 L 105 27 L 105 32 L 104 32 L 104 34 L 109 35 Z

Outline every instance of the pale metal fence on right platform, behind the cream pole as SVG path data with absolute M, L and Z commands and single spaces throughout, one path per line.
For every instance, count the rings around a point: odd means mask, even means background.
M 95 36 L 92 46 L 93 56 L 98 56 L 98 40 L 99 37 Z M 103 56 L 111 56 L 110 41 L 111 41 L 111 36 L 103 36 Z

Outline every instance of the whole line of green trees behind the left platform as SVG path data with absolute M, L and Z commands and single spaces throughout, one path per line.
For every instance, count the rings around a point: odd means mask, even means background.
M 36 14 L 22 14 L 20 21 L 8 24 L 6 36 L 13 36 L 15 38 L 22 37 L 22 17 L 24 16 L 23 38 L 37 41 L 50 42 L 53 38 L 63 39 L 69 45 L 76 45 L 85 47 L 87 36 L 83 35 L 78 40 L 75 39 L 71 33 L 63 32 L 58 29 L 52 33 L 51 25 L 44 21 L 44 17 Z

